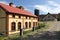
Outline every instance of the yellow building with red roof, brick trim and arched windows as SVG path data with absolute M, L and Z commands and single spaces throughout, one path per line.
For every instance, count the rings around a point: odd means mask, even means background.
M 0 3 L 0 33 L 14 34 L 19 29 L 30 30 L 37 27 L 38 17 L 24 10 L 22 6 L 13 7 L 13 4 Z

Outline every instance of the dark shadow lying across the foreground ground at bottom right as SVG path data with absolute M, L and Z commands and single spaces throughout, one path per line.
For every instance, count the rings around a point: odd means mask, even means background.
M 42 34 L 28 35 L 25 40 L 60 40 L 60 31 L 43 32 Z

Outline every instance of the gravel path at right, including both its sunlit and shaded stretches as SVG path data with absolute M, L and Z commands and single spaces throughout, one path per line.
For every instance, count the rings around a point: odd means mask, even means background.
M 26 40 L 60 40 L 60 22 L 52 22 L 45 32 L 28 36 Z

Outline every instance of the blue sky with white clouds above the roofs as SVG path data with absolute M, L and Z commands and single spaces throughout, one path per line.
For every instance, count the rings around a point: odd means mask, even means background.
M 60 0 L 0 0 L 0 3 L 9 4 L 13 2 L 15 6 L 24 6 L 25 10 L 34 13 L 34 9 L 39 9 L 40 14 L 60 13 Z

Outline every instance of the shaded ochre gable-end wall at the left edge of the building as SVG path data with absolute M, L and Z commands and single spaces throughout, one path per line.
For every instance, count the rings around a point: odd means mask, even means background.
M 6 27 L 6 13 L 2 8 L 0 8 L 0 33 L 5 32 L 5 27 Z

